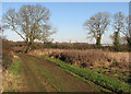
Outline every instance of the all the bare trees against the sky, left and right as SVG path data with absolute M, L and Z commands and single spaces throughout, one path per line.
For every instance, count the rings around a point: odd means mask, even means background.
M 26 51 L 28 51 L 35 40 L 48 42 L 50 35 L 56 33 L 49 24 L 50 15 L 50 11 L 40 4 L 23 5 L 19 11 L 10 9 L 3 14 L 2 28 L 10 28 L 21 36 L 26 43 Z M 96 39 L 97 47 L 102 46 L 100 40 L 107 27 L 110 25 L 110 19 L 111 16 L 108 12 L 98 12 L 84 23 L 84 27 L 88 31 L 88 37 Z M 128 45 L 131 46 L 129 20 L 129 16 L 124 16 L 121 12 L 114 15 L 114 35 L 111 35 L 111 38 L 117 51 L 120 45 L 120 33 L 124 35 Z

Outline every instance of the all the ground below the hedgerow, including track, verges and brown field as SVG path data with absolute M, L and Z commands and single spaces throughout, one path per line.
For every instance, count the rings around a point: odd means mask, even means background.
M 35 48 L 23 54 L 15 51 L 23 47 L 19 48 L 8 42 L 5 45 L 3 92 L 131 91 L 130 52 Z

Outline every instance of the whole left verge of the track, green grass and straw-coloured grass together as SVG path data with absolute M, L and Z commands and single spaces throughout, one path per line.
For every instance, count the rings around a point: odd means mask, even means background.
M 2 77 L 3 92 L 19 92 L 23 90 L 23 78 L 21 77 L 20 58 L 14 58 L 11 67 Z

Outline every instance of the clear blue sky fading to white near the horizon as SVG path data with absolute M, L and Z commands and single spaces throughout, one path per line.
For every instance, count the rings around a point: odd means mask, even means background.
M 87 31 L 83 24 L 92 15 L 98 12 L 109 12 L 111 15 L 121 11 L 126 16 L 129 14 L 128 2 L 2 2 L 2 15 L 9 9 L 19 9 L 24 4 L 41 4 L 50 10 L 50 24 L 57 28 L 57 33 L 52 35 L 53 42 L 91 43 L 95 39 L 87 39 Z M 111 26 L 105 32 L 102 44 L 111 44 L 109 35 L 114 31 Z M 10 40 L 22 40 L 22 38 L 13 31 L 5 31 L 4 36 Z

